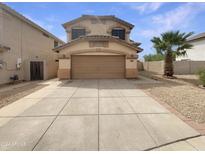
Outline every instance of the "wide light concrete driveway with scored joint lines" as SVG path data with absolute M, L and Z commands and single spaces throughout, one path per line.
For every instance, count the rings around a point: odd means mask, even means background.
M 0 150 L 149 150 L 199 135 L 138 83 L 46 82 L 0 110 Z

